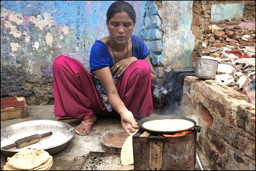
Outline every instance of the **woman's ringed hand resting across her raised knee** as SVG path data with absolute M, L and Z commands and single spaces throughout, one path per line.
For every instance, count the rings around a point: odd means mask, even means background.
M 111 74 L 113 74 L 117 70 L 114 78 L 122 76 L 122 74 L 124 74 L 124 72 L 128 68 L 128 66 L 130 66 L 130 64 L 132 64 L 132 62 L 134 62 L 136 60 L 137 60 L 137 58 L 132 56 L 130 58 L 118 61 L 117 64 L 114 64 L 110 68 Z

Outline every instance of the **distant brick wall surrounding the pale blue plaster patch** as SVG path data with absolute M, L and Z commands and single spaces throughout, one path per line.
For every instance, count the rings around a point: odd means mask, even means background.
M 243 10 L 243 16 L 242 18 L 253 20 L 255 19 L 255 1 L 252 0 L 242 0 L 242 1 L 226 1 L 226 0 L 220 0 L 220 1 L 206 1 L 206 10 L 204 12 L 204 24 L 205 26 L 211 25 L 211 8 L 212 4 L 244 4 L 244 10 Z M 230 21 L 226 21 L 225 24 L 227 25 L 238 25 L 240 20 L 242 18 L 232 18 Z

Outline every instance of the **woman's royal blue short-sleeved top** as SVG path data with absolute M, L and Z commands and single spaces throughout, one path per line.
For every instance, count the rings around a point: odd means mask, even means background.
M 138 60 L 145 59 L 149 52 L 146 44 L 138 36 L 131 35 L 131 38 L 133 56 Z M 104 44 L 104 42 L 96 40 L 96 42 L 92 45 L 90 53 L 90 73 L 92 73 L 94 70 L 105 68 L 107 66 L 111 68 L 113 65 L 114 62 L 107 46 Z M 112 77 L 114 77 L 115 74 L 116 71 L 112 74 Z

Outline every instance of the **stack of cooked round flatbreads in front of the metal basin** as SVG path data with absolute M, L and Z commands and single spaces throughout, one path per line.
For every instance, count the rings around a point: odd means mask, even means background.
M 52 163 L 47 151 L 26 149 L 8 157 L 4 170 L 49 170 Z

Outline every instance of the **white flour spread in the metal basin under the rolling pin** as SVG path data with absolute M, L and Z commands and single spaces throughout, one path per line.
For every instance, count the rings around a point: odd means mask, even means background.
M 10 145 L 12 143 L 15 143 L 16 140 L 21 139 L 21 138 L 25 138 L 25 137 L 28 137 L 28 136 L 31 136 L 31 135 L 34 135 L 34 134 L 40 134 L 41 135 L 41 134 L 44 134 L 44 133 L 47 133 L 47 132 L 46 131 L 35 131 L 35 132 L 29 132 L 29 133 L 15 134 L 15 135 L 12 135 L 9 139 L 3 139 L 1 141 L 1 147 L 4 147 L 6 145 Z M 53 132 L 51 136 L 42 138 L 41 141 L 39 141 L 37 143 L 22 147 L 20 149 L 14 147 L 14 148 L 9 149 L 9 150 L 10 151 L 12 151 L 12 150 L 23 151 L 23 150 L 28 149 L 28 148 L 33 148 L 33 149 L 38 149 L 38 150 L 48 149 L 48 148 L 51 148 L 51 147 L 61 145 L 61 144 L 65 143 L 66 141 L 68 141 L 68 137 L 66 135 Z

